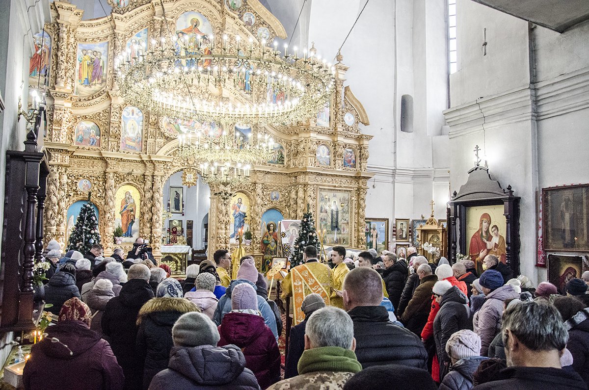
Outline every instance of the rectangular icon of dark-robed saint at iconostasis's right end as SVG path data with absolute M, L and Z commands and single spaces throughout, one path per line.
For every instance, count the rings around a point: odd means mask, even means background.
M 324 244 L 350 244 L 350 193 L 342 190 L 320 189 L 319 237 Z

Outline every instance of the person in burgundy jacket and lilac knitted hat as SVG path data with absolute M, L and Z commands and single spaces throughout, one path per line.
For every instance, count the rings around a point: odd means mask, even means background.
M 260 388 L 280 381 L 280 352 L 272 330 L 258 311 L 256 290 L 241 283 L 231 292 L 231 311 L 221 325 L 218 346 L 237 345 L 246 357 L 246 367 L 254 372 Z

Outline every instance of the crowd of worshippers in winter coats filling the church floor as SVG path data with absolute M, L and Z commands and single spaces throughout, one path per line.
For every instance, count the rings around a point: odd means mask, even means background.
M 138 239 L 137 244 L 143 244 Z M 587 389 L 589 272 L 532 285 L 494 255 L 451 265 L 336 246 L 304 249 L 276 291 L 244 256 L 171 277 L 151 256 L 61 253 L 45 302 L 57 323 L 32 347 L 25 389 Z M 483 272 L 478 275 L 477 265 Z M 516 277 L 514 277 L 516 276 Z M 300 313 L 302 317 L 299 317 Z M 282 361 L 279 342 L 289 333 Z

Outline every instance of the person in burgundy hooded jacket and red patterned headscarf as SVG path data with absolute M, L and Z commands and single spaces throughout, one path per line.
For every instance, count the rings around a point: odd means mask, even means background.
M 108 342 L 90 330 L 91 316 L 80 299 L 65 301 L 57 325 L 31 349 L 22 372 L 26 390 L 123 389 L 123 369 Z

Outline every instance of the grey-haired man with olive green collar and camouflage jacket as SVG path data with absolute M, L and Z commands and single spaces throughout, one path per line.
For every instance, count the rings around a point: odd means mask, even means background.
M 352 319 L 345 311 L 333 306 L 315 310 L 305 328 L 305 351 L 299 359 L 299 375 L 268 389 L 342 389 L 348 379 L 362 370 L 355 349 Z

